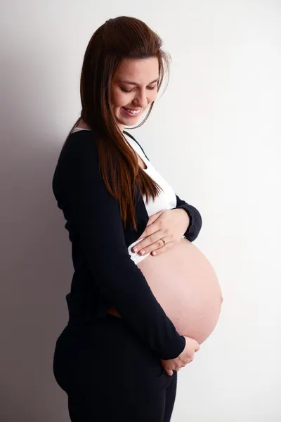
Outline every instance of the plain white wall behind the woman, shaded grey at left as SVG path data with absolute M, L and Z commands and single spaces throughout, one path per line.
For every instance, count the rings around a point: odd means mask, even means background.
M 178 373 L 172 421 L 280 421 L 280 2 L 1 8 L 1 421 L 69 421 L 51 364 L 67 322 L 71 248 L 51 179 L 81 110 L 86 45 L 117 15 L 144 20 L 171 53 L 169 87 L 131 133 L 200 210 L 195 245 L 224 296 L 216 330 Z

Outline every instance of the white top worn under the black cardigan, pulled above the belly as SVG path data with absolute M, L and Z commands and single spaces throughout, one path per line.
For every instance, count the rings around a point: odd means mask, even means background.
M 78 132 L 79 130 L 91 130 L 91 129 L 83 129 L 81 127 L 74 127 L 72 132 Z M 148 212 L 148 216 L 156 214 L 156 212 L 159 212 L 161 210 L 171 210 L 172 208 L 176 208 L 176 193 L 174 193 L 173 188 L 169 185 L 169 183 L 164 179 L 164 177 L 157 172 L 155 167 L 151 164 L 151 162 L 145 157 L 143 151 L 141 150 L 140 146 L 136 141 L 131 139 L 129 136 L 124 134 L 126 141 L 131 145 L 131 147 L 136 151 L 136 153 L 141 157 L 143 162 L 145 162 L 145 165 L 147 166 L 146 169 L 143 169 L 145 173 L 147 173 L 151 179 L 157 182 L 159 186 L 161 186 L 162 191 L 160 191 L 159 196 L 153 200 L 151 197 L 148 198 L 148 204 L 146 203 L 146 196 L 143 195 L 143 202 L 145 203 L 145 208 Z M 184 236 L 182 236 L 184 237 Z M 133 248 L 134 245 L 141 242 L 143 238 L 138 239 L 138 241 L 131 243 L 128 248 L 129 255 L 131 256 L 131 260 L 137 264 L 138 262 L 141 262 L 144 260 L 150 253 L 147 253 L 146 255 L 138 255 L 137 253 L 134 253 L 131 251 L 131 248 Z

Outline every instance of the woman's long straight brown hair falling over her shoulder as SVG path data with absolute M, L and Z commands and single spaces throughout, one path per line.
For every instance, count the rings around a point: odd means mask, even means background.
M 80 79 L 81 117 L 72 127 L 74 129 L 82 119 L 98 133 L 95 141 L 103 181 L 107 190 L 119 201 L 124 227 L 129 222 L 135 230 L 136 183 L 141 193 L 145 194 L 147 203 L 149 196 L 154 200 L 159 195 L 161 187 L 138 165 L 135 151 L 126 143 L 117 127 L 110 91 L 112 79 L 122 60 L 150 57 L 158 58 L 159 91 L 165 70 L 168 70 L 169 81 L 169 56 L 161 47 L 162 39 L 136 18 L 119 16 L 101 25 L 91 37 L 84 54 Z M 154 101 L 137 127 L 147 120 L 153 105 Z

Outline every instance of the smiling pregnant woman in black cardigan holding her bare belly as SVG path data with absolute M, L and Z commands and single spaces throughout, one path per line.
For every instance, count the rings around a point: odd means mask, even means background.
M 96 30 L 81 70 L 81 116 L 55 167 L 74 275 L 53 372 L 72 422 L 169 422 L 177 371 L 218 319 L 216 276 L 191 243 L 200 213 L 124 130 L 150 115 L 169 70 L 161 47 L 135 18 Z

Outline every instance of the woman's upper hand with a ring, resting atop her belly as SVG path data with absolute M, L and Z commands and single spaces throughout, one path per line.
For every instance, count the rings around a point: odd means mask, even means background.
M 144 239 L 133 246 L 132 251 L 138 252 L 139 255 L 160 255 L 181 240 L 189 222 L 188 213 L 182 208 L 159 211 L 151 215 L 145 231 L 138 238 Z

